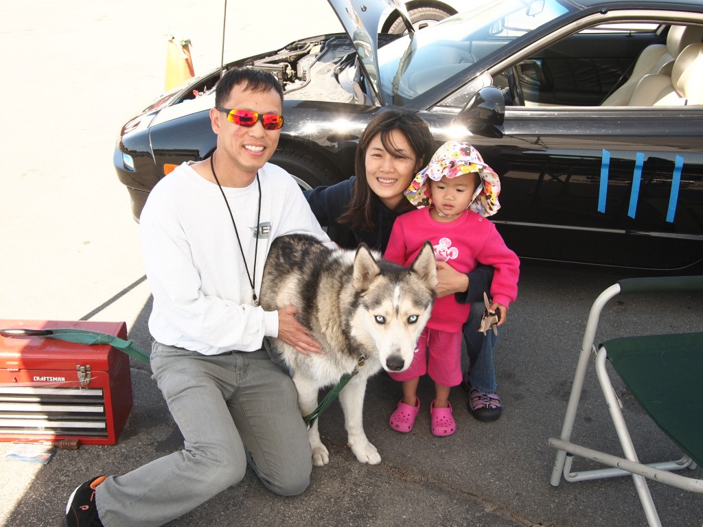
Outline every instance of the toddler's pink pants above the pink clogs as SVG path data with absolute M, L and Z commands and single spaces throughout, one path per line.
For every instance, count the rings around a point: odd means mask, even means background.
M 389 375 L 396 381 L 409 381 L 429 373 L 432 380 L 441 386 L 457 386 L 462 379 L 461 339 L 460 331 L 453 333 L 425 327 L 410 367 L 404 372 Z

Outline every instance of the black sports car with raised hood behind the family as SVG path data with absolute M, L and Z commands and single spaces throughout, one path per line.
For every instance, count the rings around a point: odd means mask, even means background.
M 285 126 L 271 162 L 301 186 L 351 176 L 375 112 L 405 106 L 438 145 L 470 141 L 501 175 L 492 220 L 522 258 L 669 270 L 703 261 L 700 1 L 496 0 L 416 32 L 408 20 L 402 35 L 375 29 L 392 1 L 330 4 L 346 34 L 224 66 L 280 79 Z M 160 178 L 214 150 L 220 74 L 122 127 L 114 162 L 136 219 Z

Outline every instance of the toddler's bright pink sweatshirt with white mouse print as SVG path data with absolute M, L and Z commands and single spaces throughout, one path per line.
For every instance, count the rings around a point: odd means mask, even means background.
M 493 301 L 505 307 L 515 301 L 520 260 L 505 246 L 491 221 L 467 211 L 454 221 L 441 223 L 432 219 L 429 207 L 411 211 L 396 219 L 384 256 L 409 266 L 425 240 L 432 242 L 435 259 L 446 261 L 461 273 L 472 271 L 477 263 L 493 266 L 495 273 L 490 295 Z M 453 294 L 448 294 L 434 302 L 427 327 L 460 331 L 470 308 L 470 304 L 459 304 Z

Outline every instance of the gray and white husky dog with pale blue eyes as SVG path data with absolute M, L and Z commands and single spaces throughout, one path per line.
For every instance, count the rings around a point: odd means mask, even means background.
M 420 332 L 430 318 L 437 285 L 434 252 L 426 242 L 410 268 L 385 261 L 365 244 L 356 251 L 330 249 L 309 235 L 286 235 L 271 244 L 261 288 L 261 305 L 273 311 L 288 304 L 321 344 L 311 356 L 271 339 L 274 360 L 285 363 L 298 391 L 302 415 L 318 404 L 318 392 L 344 374 L 340 391 L 349 447 L 362 463 L 381 457 L 363 431 L 366 380 L 381 369 L 402 372 L 413 360 Z M 329 452 L 318 424 L 308 431 L 312 462 L 322 467 Z

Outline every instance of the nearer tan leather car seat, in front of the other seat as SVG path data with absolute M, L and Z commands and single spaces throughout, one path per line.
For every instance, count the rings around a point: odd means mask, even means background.
M 676 58 L 669 75 L 645 75 L 628 106 L 703 105 L 703 43 L 691 44 Z

